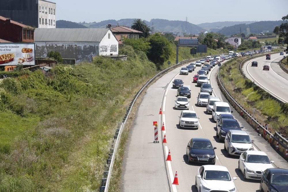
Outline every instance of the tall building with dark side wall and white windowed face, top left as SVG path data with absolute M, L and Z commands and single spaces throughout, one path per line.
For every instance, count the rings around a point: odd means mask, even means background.
M 56 28 L 56 3 L 45 0 L 6 0 L 0 15 L 35 28 Z

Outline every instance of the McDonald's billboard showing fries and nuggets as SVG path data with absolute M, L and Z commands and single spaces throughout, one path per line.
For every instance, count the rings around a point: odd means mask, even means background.
M 34 43 L 0 43 L 0 66 L 35 65 Z

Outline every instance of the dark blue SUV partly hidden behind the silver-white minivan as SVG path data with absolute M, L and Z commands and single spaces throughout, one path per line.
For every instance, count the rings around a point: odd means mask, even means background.
M 241 130 L 242 128 L 236 119 L 221 119 L 217 125 L 216 137 L 219 137 L 219 141 L 223 141 L 230 129 Z

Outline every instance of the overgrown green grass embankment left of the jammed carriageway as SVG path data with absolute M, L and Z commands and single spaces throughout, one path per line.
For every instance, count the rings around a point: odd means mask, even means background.
M 98 191 L 125 108 L 157 73 L 146 55 L 98 57 L 0 83 L 0 191 Z

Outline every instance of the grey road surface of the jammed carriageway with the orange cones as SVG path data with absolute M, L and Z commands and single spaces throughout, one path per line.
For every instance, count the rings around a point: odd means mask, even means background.
M 259 191 L 259 181 L 244 181 L 243 174 L 238 172 L 239 157 L 228 157 L 227 152 L 224 151 L 224 143 L 219 142 L 216 138 L 215 123 L 212 122 L 211 115 L 206 114 L 206 107 L 196 106 L 196 97 L 200 88 L 191 81 L 199 68 L 196 67 L 196 70 L 189 75 L 178 75 L 180 67 L 177 67 L 163 75 L 147 89 L 137 111 L 134 120 L 135 126 L 130 133 L 129 143 L 126 147 L 121 191 L 197 191 L 195 177 L 196 171 L 201 165 L 189 164 L 185 155 L 187 143 L 191 138 L 211 140 L 213 147 L 217 147 L 215 149 L 216 165 L 226 166 L 231 176 L 237 177 L 234 182 L 237 191 Z M 213 67 L 208 74 L 214 88 L 213 96 L 218 96 L 221 101 L 227 102 L 217 86 L 217 70 L 218 67 Z M 182 79 L 184 86 L 191 89 L 192 96 L 188 100 L 191 101 L 190 110 L 196 111 L 200 117 L 198 130 L 179 128 L 178 116 L 181 111 L 173 109 L 177 95 L 177 89 L 172 89 L 172 81 L 175 78 Z M 160 143 L 156 144 L 151 143 L 154 140 L 152 122 L 160 121 L 158 113 L 161 106 L 163 109 L 162 121 L 166 131 L 162 131 L 162 137 L 159 138 Z M 232 107 L 231 110 L 236 111 Z M 288 168 L 287 162 L 263 138 L 258 136 L 238 113 L 234 112 L 233 115 L 240 126 L 244 126 L 243 130 L 246 130 L 251 139 L 255 140 L 254 148 L 256 150 L 265 151 L 270 159 L 275 161 L 275 167 Z M 167 143 L 162 144 L 164 133 L 166 133 Z M 168 149 L 171 151 L 172 161 L 165 161 Z M 176 171 L 179 185 L 171 185 Z

